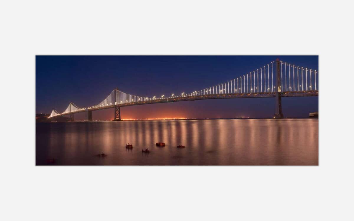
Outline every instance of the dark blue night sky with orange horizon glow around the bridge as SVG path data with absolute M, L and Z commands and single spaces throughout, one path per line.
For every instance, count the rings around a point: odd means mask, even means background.
M 96 105 L 116 87 L 147 97 L 198 91 L 276 58 L 318 70 L 318 56 L 36 56 L 36 113 L 62 112 L 69 102 Z M 283 98 L 282 104 L 285 117 L 308 117 L 318 111 L 318 97 Z M 274 106 L 274 98 L 211 99 L 122 107 L 121 116 L 272 117 Z M 94 120 L 113 116 L 113 109 L 93 112 Z M 84 114 L 75 115 L 75 120 L 83 118 Z

